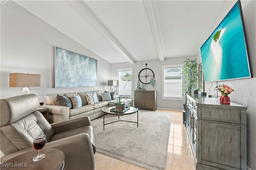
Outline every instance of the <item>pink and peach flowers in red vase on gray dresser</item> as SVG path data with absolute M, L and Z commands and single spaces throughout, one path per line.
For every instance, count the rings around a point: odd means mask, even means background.
M 215 87 L 215 90 L 219 91 L 221 93 L 220 103 L 230 104 L 230 97 L 228 95 L 234 91 L 234 89 L 232 89 L 232 87 L 222 84 L 222 85 L 217 85 Z

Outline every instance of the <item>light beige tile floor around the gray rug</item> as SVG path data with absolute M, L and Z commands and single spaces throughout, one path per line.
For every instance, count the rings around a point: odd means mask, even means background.
M 160 109 L 158 109 L 160 111 Z M 195 170 L 194 154 L 186 128 L 182 123 L 182 111 L 161 110 L 172 114 L 166 170 Z M 144 170 L 144 168 L 97 153 L 95 170 Z

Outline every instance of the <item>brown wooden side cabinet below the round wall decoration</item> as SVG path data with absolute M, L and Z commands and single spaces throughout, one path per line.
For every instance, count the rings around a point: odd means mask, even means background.
M 156 111 L 156 91 L 134 90 L 134 107 Z

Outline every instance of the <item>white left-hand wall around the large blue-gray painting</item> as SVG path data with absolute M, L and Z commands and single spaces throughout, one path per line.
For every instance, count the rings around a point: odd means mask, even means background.
M 98 86 L 54 88 L 54 46 L 97 59 Z M 21 95 L 22 87 L 9 87 L 9 73 L 40 74 L 41 87 L 29 87 L 30 93 L 38 96 L 110 88 L 110 63 L 13 1 L 1 5 L 0 61 L 1 99 Z

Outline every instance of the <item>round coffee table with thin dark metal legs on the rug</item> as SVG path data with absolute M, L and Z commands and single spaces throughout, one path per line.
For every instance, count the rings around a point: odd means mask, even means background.
M 132 122 L 132 121 L 124 121 L 124 122 L 137 123 L 137 127 L 139 127 L 139 124 L 138 124 L 138 122 L 139 122 L 139 120 L 138 120 L 138 115 L 139 115 L 138 108 L 137 107 L 133 107 L 133 106 L 128 106 L 128 107 L 130 107 L 130 109 L 128 109 L 125 112 L 112 111 L 111 109 L 115 109 L 116 108 L 115 106 L 109 106 L 109 107 L 103 108 L 102 109 L 102 112 L 103 112 L 103 130 L 105 130 L 105 125 L 108 125 L 110 123 L 115 123 L 115 122 L 123 121 L 123 120 L 120 119 L 119 116 L 130 115 L 130 114 L 133 114 L 133 113 L 136 113 L 136 112 L 137 112 L 137 122 Z M 105 115 L 118 115 L 118 121 L 114 121 L 114 122 L 110 122 L 110 123 L 106 123 L 105 124 Z

